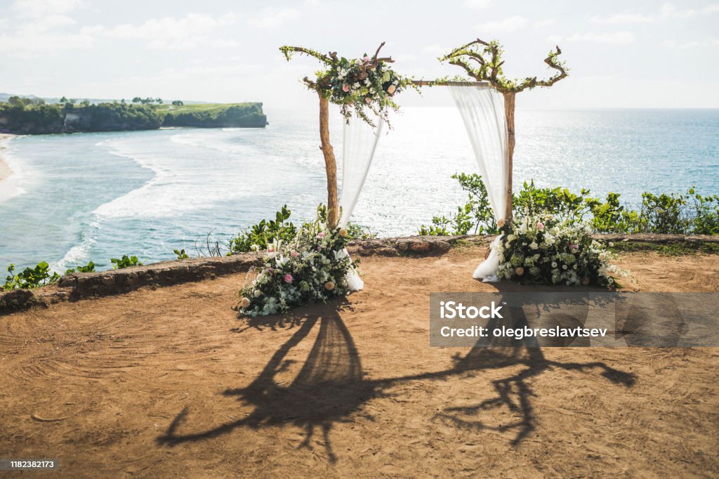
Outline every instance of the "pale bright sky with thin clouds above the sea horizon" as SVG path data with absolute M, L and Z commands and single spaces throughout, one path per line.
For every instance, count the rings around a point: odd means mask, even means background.
M 717 1 L 0 0 L 0 92 L 68 98 L 262 101 L 306 108 L 319 63 L 280 45 L 347 58 L 374 53 L 415 78 L 454 76 L 439 55 L 474 40 L 505 45 L 505 74 L 570 68 L 518 108 L 719 108 Z M 404 106 L 450 106 L 436 91 Z

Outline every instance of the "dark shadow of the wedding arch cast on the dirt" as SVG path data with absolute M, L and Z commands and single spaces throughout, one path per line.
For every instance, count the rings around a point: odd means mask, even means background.
M 309 449 L 311 449 L 313 434 L 319 429 L 324 436 L 324 447 L 329 460 L 335 462 L 337 458 L 329 437 L 332 425 L 336 422 L 352 421 L 352 414 L 360 411 L 367 401 L 388 396 L 389 388 L 401 386 L 409 381 L 442 380 L 454 375 L 474 376 L 480 374 L 482 370 L 498 370 L 521 365 L 523 369 L 518 373 L 493 380 L 492 386 L 496 393 L 494 398 L 472 406 L 448 408 L 430 418 L 433 421 L 445 421 L 477 431 L 513 431 L 515 435 L 511 443 L 516 445 L 536 428 L 536 417 L 531 401 L 536 393 L 531 388 L 531 378 L 536 378 L 550 370 L 562 369 L 581 373 L 597 372 L 611 383 L 626 387 L 632 386 L 635 380 L 633 374 L 610 368 L 603 362 L 547 360 L 539 347 L 526 342 L 472 348 L 467 355 L 454 357 L 454 365 L 446 370 L 395 378 L 367 379 L 352 335 L 342 321 L 341 313 L 347 308 L 349 304 L 343 301 L 317 308 L 319 314 L 311 316 L 249 319 L 244 329 L 297 328 L 293 336 L 274 353 L 262 373 L 249 386 L 224 391 L 224 396 L 236 397 L 255 409 L 242 419 L 212 429 L 200 427 L 197 432 L 180 433 L 178 432 L 180 428 L 186 430 L 187 427 L 185 426 L 188 416 L 186 408 L 175 416 L 165 434 L 157 438 L 157 442 L 175 445 L 219 437 L 241 427 L 260 429 L 264 426 L 292 424 L 305 429 L 306 435 L 301 447 Z M 512 313 L 518 315 L 516 321 L 521 325 L 523 314 L 521 309 L 513 309 Z M 285 359 L 288 353 L 300 344 L 318 323 L 319 332 L 300 372 L 289 386 L 280 386 L 275 377 L 288 368 L 289 360 Z M 242 332 L 244 329 L 235 331 Z M 401 391 L 395 390 L 394 393 L 400 394 Z M 513 415 L 516 414 L 518 419 L 500 426 L 492 426 L 482 421 L 483 411 L 500 408 L 507 408 Z M 365 417 L 372 419 L 366 414 Z

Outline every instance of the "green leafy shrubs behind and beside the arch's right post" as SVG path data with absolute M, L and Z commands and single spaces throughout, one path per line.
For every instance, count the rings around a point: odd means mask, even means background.
M 458 173 L 469 193 L 467 203 L 457 206 L 449 216 L 434 216 L 432 224 L 422 225 L 419 234 L 461 235 L 498 232 L 480 175 Z M 512 199 L 513 216 L 552 214 L 567 224 L 587 222 L 597 233 L 719 234 L 719 196 L 702 196 L 690 188 L 687 193 L 642 193 L 638 210 L 620 203 L 620 194 L 608 193 L 604 201 L 582 188 L 538 188 L 533 181 L 523 183 Z

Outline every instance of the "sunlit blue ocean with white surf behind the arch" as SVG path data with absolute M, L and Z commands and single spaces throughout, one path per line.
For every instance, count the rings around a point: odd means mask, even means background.
M 265 129 L 161 129 L 15 137 L 0 195 L 0 276 L 45 260 L 63 272 L 137 255 L 193 255 L 283 204 L 300 221 L 326 201 L 316 111 L 265 109 Z M 352 220 L 380 236 L 416 234 L 464 202 L 451 175 L 475 172 L 454 108 L 406 108 L 380 138 Z M 342 119 L 332 118 L 341 161 Z M 719 193 L 719 110 L 516 112 L 514 188 Z M 8 195 L 12 195 L 9 198 Z

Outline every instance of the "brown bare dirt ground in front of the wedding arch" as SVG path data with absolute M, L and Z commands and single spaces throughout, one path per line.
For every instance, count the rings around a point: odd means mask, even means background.
M 0 457 L 67 477 L 719 475 L 719 348 L 429 347 L 430 292 L 494 291 L 483 255 L 365 258 L 364 291 L 286 317 L 238 318 L 245 275 L 0 316 Z M 719 291 L 718 255 L 619 264 L 641 291 Z

